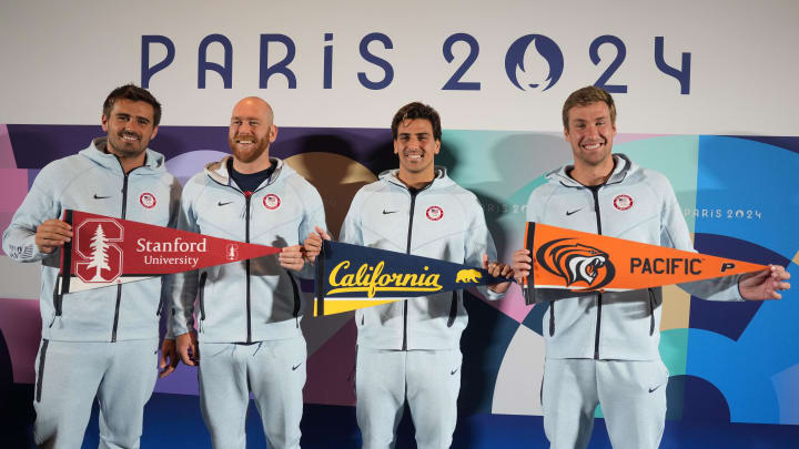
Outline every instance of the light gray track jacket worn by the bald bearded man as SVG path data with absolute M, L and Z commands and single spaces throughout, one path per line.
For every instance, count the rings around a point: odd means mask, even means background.
M 246 196 L 230 178 L 227 160 L 209 164 L 185 185 L 178 227 L 213 237 L 285 247 L 325 228 L 316 188 L 283 161 Z M 313 276 L 309 265 L 303 277 Z M 195 307 L 195 299 L 196 305 Z M 277 255 L 175 275 L 172 290 L 174 335 L 200 320 L 205 343 L 252 343 L 301 336 L 300 282 Z

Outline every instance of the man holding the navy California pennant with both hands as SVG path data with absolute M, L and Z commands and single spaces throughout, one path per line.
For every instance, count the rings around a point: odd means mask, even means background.
M 434 164 L 441 150 L 441 119 L 431 106 L 409 103 L 392 120 L 400 169 L 381 173 L 352 201 L 341 241 L 417 256 L 483 266 L 509 276 L 496 258 L 494 241 L 477 197 Z M 318 255 L 321 228 L 309 235 L 309 258 Z M 509 282 L 479 287 L 489 299 Z M 394 447 L 407 400 L 419 449 L 452 445 L 461 391 L 461 334 L 468 320 L 462 292 L 368 307 L 355 312 L 356 416 L 364 449 Z

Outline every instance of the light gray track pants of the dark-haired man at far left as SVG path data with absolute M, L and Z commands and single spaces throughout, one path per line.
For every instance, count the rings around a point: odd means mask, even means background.
M 94 397 L 100 448 L 138 448 L 144 404 L 158 375 L 158 338 L 42 340 L 36 360 L 33 439 L 40 448 L 80 448 Z

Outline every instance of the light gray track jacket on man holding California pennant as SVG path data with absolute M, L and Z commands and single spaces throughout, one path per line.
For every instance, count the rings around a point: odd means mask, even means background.
M 350 205 L 341 241 L 416 256 L 483 266 L 496 259 L 483 207 L 469 191 L 436 167 L 432 184 L 412 195 L 396 177 L 381 173 Z M 504 295 L 481 287 L 489 299 Z M 468 317 L 461 292 L 367 307 L 355 312 L 358 346 L 372 349 L 457 349 Z

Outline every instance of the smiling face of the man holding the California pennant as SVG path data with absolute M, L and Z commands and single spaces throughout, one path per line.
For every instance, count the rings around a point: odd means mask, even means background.
M 434 157 L 441 141 L 433 136 L 433 124 L 426 119 L 400 122 L 394 140 L 394 154 L 400 157 L 400 178 L 412 180 L 434 176 Z

